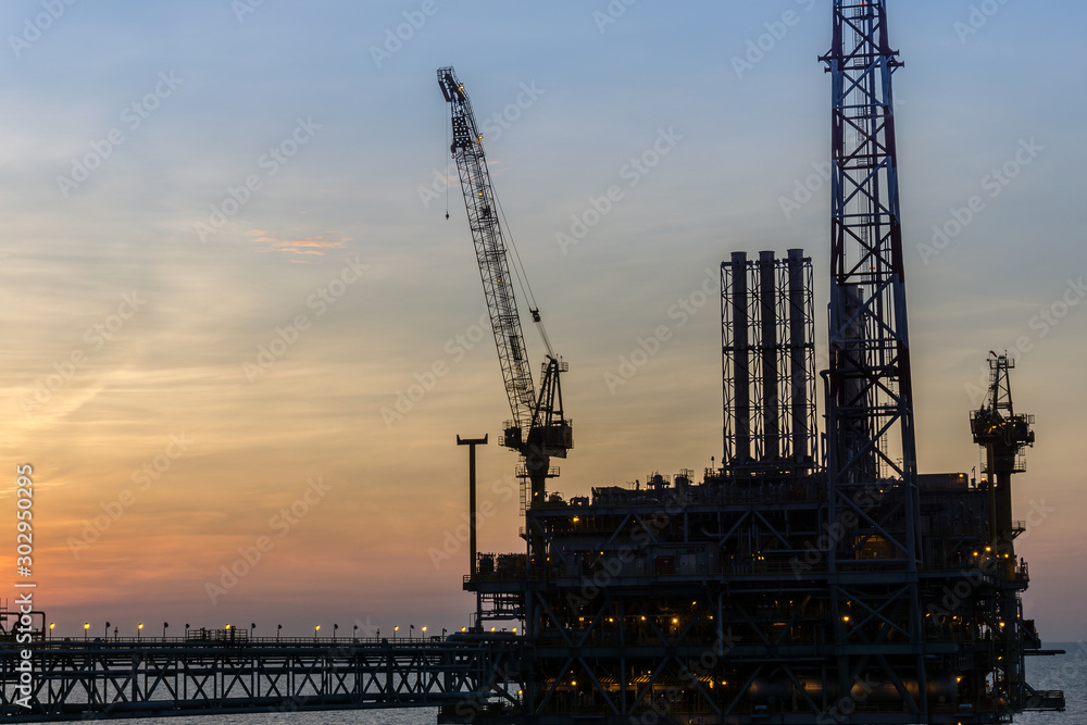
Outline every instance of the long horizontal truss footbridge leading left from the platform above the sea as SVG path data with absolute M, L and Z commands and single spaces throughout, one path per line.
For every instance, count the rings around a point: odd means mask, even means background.
M 516 700 L 509 635 L 390 642 L 36 641 L 0 647 L 0 720 L 442 707 Z M 28 649 L 29 667 L 21 650 Z M 22 667 L 22 670 L 21 670 Z M 21 689 L 24 671 L 27 689 Z

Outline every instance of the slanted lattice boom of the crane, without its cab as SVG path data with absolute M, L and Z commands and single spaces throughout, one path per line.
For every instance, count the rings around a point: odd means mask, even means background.
M 452 145 L 450 151 L 457 160 L 457 171 L 464 193 L 464 207 L 475 243 L 476 260 L 483 291 L 490 313 L 490 326 L 498 347 L 498 360 L 502 366 L 505 392 L 510 398 L 510 410 L 515 424 L 527 430 L 533 420 L 536 404 L 532 370 L 525 351 L 525 340 L 521 332 L 521 317 L 513 293 L 510 262 L 505 253 L 505 240 L 499 223 L 499 210 L 487 170 L 487 159 L 483 149 L 483 135 L 476 125 L 472 103 L 464 86 L 457 79 L 453 68 L 438 70 L 438 85 L 449 102 L 452 121 Z

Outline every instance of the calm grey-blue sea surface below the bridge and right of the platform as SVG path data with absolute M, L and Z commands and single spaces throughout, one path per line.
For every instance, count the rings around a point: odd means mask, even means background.
M 1064 690 L 1067 710 L 1024 713 L 1022 725 L 1087 725 L 1087 642 L 1046 645 L 1067 654 L 1027 658 L 1027 682 L 1039 690 Z M 129 720 L 134 725 L 434 725 L 436 708 L 405 710 L 357 710 L 338 712 L 260 713 L 251 715 L 201 715 L 165 720 Z

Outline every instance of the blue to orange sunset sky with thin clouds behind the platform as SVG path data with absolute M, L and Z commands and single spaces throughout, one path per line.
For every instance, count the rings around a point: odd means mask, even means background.
M 921 470 L 978 465 L 1008 350 L 1026 616 L 1083 639 L 1087 8 L 889 5 Z M 0 520 L 30 464 L 59 633 L 465 626 L 458 435 L 491 440 L 480 550 L 523 550 L 439 66 L 570 363 L 552 488 L 720 461 L 733 251 L 811 254 L 826 359 L 829 0 L 12 0 L 0 29 Z

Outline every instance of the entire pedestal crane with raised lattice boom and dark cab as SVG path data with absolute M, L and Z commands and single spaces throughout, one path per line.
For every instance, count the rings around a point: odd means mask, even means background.
M 540 389 L 536 392 L 483 134 L 476 125 L 464 85 L 457 79 L 452 67 L 438 68 L 438 86 L 450 108 L 452 143 L 449 150 L 457 161 L 498 361 L 513 413 L 513 418 L 504 425 L 502 445 L 523 457 L 522 476 L 528 478 L 532 492 L 526 508 L 536 508 L 545 501 L 547 479 L 557 475 L 551 470 L 551 458 L 566 458 L 566 451 L 573 448 L 571 424 L 563 415 L 559 383 L 559 375 L 567 371 L 567 364 L 551 349 L 539 309 L 529 308 L 548 351 Z M 529 534 L 529 548 L 534 554 L 540 554 L 532 547 L 533 538 Z

